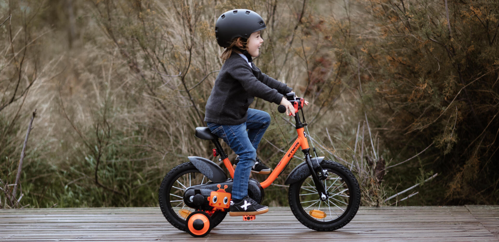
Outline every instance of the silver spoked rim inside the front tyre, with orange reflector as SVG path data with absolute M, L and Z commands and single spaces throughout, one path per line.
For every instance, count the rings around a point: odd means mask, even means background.
M 324 223 L 340 218 L 345 213 L 350 200 L 350 192 L 346 182 L 329 169 L 328 173 L 327 179 L 324 180 L 326 192 L 329 194 L 327 201 L 319 199 L 311 175 L 303 181 L 298 192 L 298 201 L 305 214 L 312 220 Z M 315 217 L 310 214 L 312 211 Z

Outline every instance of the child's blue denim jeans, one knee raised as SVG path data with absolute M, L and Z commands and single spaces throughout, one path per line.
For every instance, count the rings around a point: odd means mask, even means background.
M 251 167 L 256 160 L 256 148 L 270 124 L 270 115 L 260 110 L 248 109 L 248 119 L 244 123 L 238 125 L 207 123 L 212 133 L 224 139 L 239 155 L 240 160 L 234 171 L 232 198 L 241 200 L 248 196 L 248 181 Z

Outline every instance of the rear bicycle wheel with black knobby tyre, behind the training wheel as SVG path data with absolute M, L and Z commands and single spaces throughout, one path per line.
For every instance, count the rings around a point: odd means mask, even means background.
M 209 180 L 191 163 L 175 166 L 161 182 L 159 188 L 159 206 L 163 216 L 175 228 L 188 232 L 186 218 L 196 210 L 184 203 L 185 190 L 194 185 L 205 184 Z M 227 212 L 205 211 L 211 217 L 212 228 L 224 220 Z

